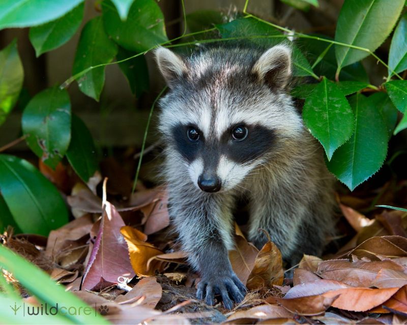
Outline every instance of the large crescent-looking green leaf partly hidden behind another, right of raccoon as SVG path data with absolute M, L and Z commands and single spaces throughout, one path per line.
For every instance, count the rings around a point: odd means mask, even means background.
M 387 154 L 387 127 L 375 105 L 362 94 L 350 99 L 355 132 L 327 161 L 328 169 L 353 190 L 383 165 Z

